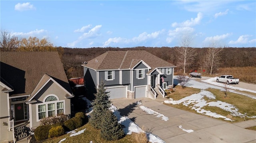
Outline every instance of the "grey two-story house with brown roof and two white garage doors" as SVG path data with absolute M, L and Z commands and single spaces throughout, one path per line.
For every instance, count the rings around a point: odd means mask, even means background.
M 165 96 L 173 86 L 174 65 L 146 51 L 107 51 L 82 64 L 89 97 L 104 82 L 110 99 Z

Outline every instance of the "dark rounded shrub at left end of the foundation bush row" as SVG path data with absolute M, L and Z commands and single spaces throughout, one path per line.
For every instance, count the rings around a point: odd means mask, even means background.
M 50 125 L 38 126 L 34 131 L 36 141 L 42 141 L 42 140 L 47 139 L 50 128 L 51 128 Z

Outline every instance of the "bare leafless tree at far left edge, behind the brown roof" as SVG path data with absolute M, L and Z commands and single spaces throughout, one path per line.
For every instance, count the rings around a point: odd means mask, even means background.
M 18 37 L 7 31 L 1 31 L 0 49 L 1 51 L 15 51 L 19 45 Z

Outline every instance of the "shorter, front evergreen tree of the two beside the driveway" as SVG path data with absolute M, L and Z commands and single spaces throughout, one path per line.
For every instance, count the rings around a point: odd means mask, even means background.
M 117 117 L 108 109 L 104 113 L 100 136 L 108 141 L 121 139 L 124 136 L 124 130 L 120 123 L 118 123 Z

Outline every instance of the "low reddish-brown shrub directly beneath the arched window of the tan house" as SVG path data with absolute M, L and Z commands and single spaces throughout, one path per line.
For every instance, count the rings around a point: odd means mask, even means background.
M 60 114 L 58 116 L 41 119 L 40 122 L 41 122 L 41 125 L 53 125 L 56 123 L 63 124 L 64 121 L 68 119 L 70 119 L 69 115 Z

